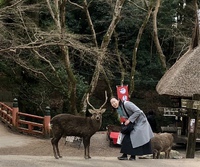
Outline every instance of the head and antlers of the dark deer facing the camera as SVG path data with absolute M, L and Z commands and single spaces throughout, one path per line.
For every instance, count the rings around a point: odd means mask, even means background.
M 107 92 L 105 91 L 105 102 L 99 109 L 96 109 L 94 108 L 93 105 L 90 104 L 89 94 L 87 94 L 87 103 L 90 107 L 92 107 L 92 109 L 88 109 L 88 111 L 92 114 L 92 117 L 91 117 L 92 119 L 101 120 L 102 114 L 106 111 L 106 109 L 103 107 L 105 106 L 107 100 L 108 100 L 108 96 L 107 96 Z

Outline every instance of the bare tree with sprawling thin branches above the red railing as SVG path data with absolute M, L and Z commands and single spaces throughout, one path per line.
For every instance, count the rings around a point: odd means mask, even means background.
M 14 2 L 14 1 L 13 1 Z M 43 2 L 41 2 L 42 5 Z M 62 94 L 69 99 L 69 111 L 77 113 L 76 109 L 76 78 L 72 71 L 72 63 L 69 56 L 69 47 L 78 50 L 79 52 L 96 55 L 96 48 L 89 45 L 84 45 L 79 42 L 79 36 L 67 33 L 65 30 L 65 5 L 64 1 L 46 1 L 51 16 L 55 22 L 54 29 L 50 32 L 42 31 L 40 28 L 27 17 L 26 12 L 40 8 L 40 4 L 25 5 L 23 1 L 11 3 L 1 9 L 1 20 L 9 19 L 10 23 L 2 22 L 2 45 L 0 53 L 2 57 L 14 60 L 16 64 L 23 69 L 32 72 L 35 76 L 45 79 L 46 82 L 52 85 L 55 89 L 61 89 Z M 52 6 L 53 5 L 53 6 Z M 15 31 L 12 27 L 15 26 Z M 23 32 L 23 38 L 18 34 Z M 8 35 L 9 34 L 9 35 Z M 5 38 L 7 35 L 7 39 Z M 9 39 L 9 37 L 11 37 Z M 62 53 L 62 58 L 58 57 L 51 51 L 51 47 L 59 47 Z M 24 52 L 29 52 L 30 56 L 25 56 Z M 49 53 L 49 55 L 48 55 Z M 23 58 L 24 57 L 24 58 Z M 52 61 L 55 57 L 55 60 Z M 47 75 L 47 70 L 31 65 L 31 59 L 45 62 L 48 66 L 48 71 L 52 76 Z M 65 66 L 66 80 L 63 80 L 56 68 L 57 63 L 62 60 L 60 66 Z M 54 80 L 51 78 L 54 77 Z M 56 81 L 55 81 L 56 79 Z M 66 85 L 67 83 L 67 85 Z M 43 100 L 42 100 L 43 101 Z

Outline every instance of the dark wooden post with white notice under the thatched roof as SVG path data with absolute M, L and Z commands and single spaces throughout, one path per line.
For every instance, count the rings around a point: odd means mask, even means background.
M 200 100 L 200 95 L 193 95 L 193 100 L 188 104 L 189 122 L 188 122 L 188 141 L 186 148 L 186 158 L 195 157 L 197 122 L 199 106 L 195 105 L 195 100 Z

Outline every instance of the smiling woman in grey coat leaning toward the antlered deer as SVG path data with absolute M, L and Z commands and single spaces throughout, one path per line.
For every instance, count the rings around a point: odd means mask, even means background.
M 131 155 L 129 160 L 135 160 L 136 155 L 152 154 L 150 140 L 153 137 L 153 132 L 143 111 L 130 101 L 122 102 L 114 97 L 110 99 L 110 103 L 121 112 L 121 116 L 126 118 L 125 125 L 130 122 L 134 123 L 134 129 L 131 133 L 123 135 L 120 151 L 123 154 L 118 159 L 127 160 L 127 155 Z M 130 117 L 127 116 L 126 112 Z

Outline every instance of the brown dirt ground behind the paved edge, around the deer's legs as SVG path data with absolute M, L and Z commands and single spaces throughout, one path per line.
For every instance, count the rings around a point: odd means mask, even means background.
M 120 155 L 120 146 L 109 146 L 107 132 L 97 132 L 91 138 L 90 155 L 103 157 L 117 157 Z M 80 147 L 79 147 L 80 146 Z M 66 142 L 62 138 L 59 142 L 62 156 L 83 156 L 84 147 L 78 142 Z M 178 157 L 185 157 L 185 147 L 175 147 Z M 32 155 L 32 156 L 53 156 L 50 139 L 41 139 L 19 133 L 14 133 L 0 122 L 0 155 Z M 195 153 L 200 157 L 200 151 Z

